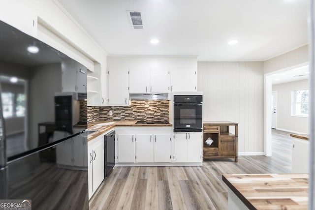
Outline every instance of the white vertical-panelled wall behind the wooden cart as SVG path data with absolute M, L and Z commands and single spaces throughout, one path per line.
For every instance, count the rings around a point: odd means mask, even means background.
M 263 154 L 263 63 L 198 62 L 203 120 L 239 123 L 240 154 Z

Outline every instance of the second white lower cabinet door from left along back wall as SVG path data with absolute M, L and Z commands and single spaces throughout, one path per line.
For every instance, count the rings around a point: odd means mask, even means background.
M 153 162 L 153 135 L 136 134 L 136 162 L 152 163 Z

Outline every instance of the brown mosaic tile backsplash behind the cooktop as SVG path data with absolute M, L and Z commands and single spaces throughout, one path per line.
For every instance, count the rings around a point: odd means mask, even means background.
M 169 101 L 168 100 L 132 100 L 128 107 L 88 107 L 88 122 L 95 120 L 119 121 L 119 120 L 149 120 L 160 121 L 169 118 Z M 109 116 L 109 111 L 113 115 Z

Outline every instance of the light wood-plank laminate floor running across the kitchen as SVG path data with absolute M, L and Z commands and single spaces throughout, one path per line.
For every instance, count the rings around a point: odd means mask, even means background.
M 91 198 L 90 209 L 226 210 L 222 174 L 290 173 L 290 138 L 273 131 L 272 157 L 239 156 L 238 163 L 221 159 L 196 167 L 114 168 Z

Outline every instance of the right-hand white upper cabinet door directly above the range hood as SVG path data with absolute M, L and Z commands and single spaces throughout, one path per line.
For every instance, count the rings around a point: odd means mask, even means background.
M 150 92 L 169 92 L 169 86 L 168 68 L 150 69 Z

